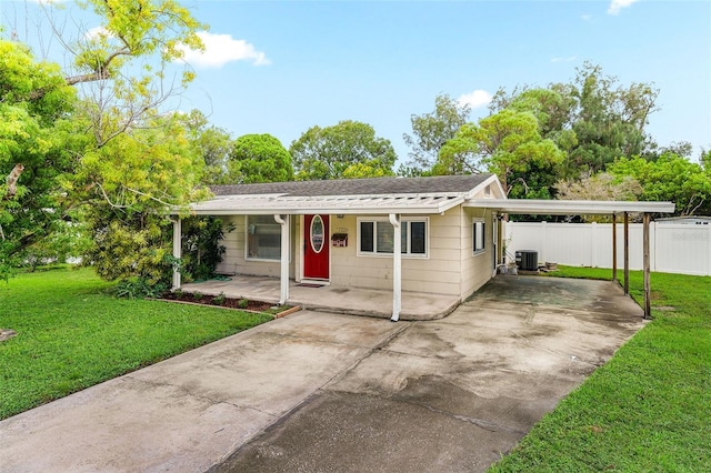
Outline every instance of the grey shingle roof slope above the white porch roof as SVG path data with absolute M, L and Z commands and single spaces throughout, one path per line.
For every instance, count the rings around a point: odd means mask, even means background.
M 218 195 L 283 194 L 317 195 L 385 195 L 435 194 L 469 192 L 492 174 L 439 175 L 432 178 L 368 178 L 324 181 L 270 182 L 262 184 L 213 185 Z

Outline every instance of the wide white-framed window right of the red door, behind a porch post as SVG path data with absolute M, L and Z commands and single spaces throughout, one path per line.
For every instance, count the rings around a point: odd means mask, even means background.
M 427 219 L 402 220 L 402 254 L 427 256 Z M 392 254 L 394 250 L 394 229 L 388 220 L 358 220 L 358 254 Z

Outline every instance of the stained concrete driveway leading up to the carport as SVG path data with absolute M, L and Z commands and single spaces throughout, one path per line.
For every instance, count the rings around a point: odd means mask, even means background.
M 2 470 L 483 471 L 642 324 L 521 276 L 439 321 L 299 312 L 0 422 Z

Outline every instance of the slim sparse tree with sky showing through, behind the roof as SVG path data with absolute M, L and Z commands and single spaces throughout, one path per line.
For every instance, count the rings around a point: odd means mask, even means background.
M 433 112 L 410 115 L 412 135 L 402 135 L 411 149 L 410 161 L 400 173 L 417 175 L 428 172 L 437 162 L 440 149 L 468 122 L 469 113 L 468 104 L 460 104 L 448 94 L 439 94 L 434 99 Z

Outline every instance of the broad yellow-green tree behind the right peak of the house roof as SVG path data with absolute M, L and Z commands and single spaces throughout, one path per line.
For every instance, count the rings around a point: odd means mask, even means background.
M 514 173 L 523 173 L 531 164 L 555 165 L 562 159 L 555 143 L 541 138 L 532 113 L 504 109 L 462 127 L 440 150 L 434 173 L 493 172 L 509 194 Z

